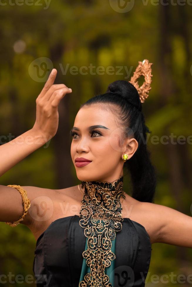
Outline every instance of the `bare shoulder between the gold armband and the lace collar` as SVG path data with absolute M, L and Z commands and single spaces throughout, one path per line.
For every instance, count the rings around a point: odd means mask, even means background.
M 81 197 L 78 186 L 64 189 L 22 187 L 27 192 L 31 206 L 20 223 L 28 226 L 36 240 L 56 219 L 79 214 Z

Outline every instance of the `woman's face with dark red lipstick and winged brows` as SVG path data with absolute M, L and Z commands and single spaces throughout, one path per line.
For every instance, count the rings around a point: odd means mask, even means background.
M 72 128 L 71 158 L 80 181 L 112 182 L 123 175 L 122 155 L 127 149 L 126 145 L 122 146 L 124 140 L 119 146 L 122 129 L 116 125 L 114 117 L 112 112 L 100 108 L 98 104 L 84 106 L 78 111 L 75 128 Z M 102 127 L 91 130 L 90 127 L 95 125 Z M 75 158 L 81 157 L 91 162 L 77 167 Z

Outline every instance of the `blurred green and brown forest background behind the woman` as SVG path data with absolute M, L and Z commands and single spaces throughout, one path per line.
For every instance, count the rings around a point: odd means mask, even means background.
M 143 111 L 152 131 L 148 141 L 151 160 L 158 170 L 155 203 L 191 216 L 192 6 L 190 1 L 128 1 L 129 11 L 123 11 L 126 1 L 117 2 L 1 1 L 1 144 L 13 139 L 9 139 L 10 134 L 15 138 L 33 127 L 35 100 L 50 69 L 58 71 L 55 83 L 65 83 L 73 90 L 60 102 L 55 137 L 1 176 L 1 184 L 50 189 L 79 184 L 70 157 L 69 130 L 80 104 L 104 93 L 115 80 L 130 80 L 138 61 L 148 59 L 153 63 L 153 78 Z M 34 63 L 46 64 L 41 70 L 34 68 Z M 93 72 L 90 65 L 95 66 Z M 104 72 L 96 70 L 99 66 Z M 141 77 L 139 83 L 143 80 Z M 170 141 L 171 134 L 176 144 L 160 141 L 164 135 Z M 159 137 L 156 144 L 153 136 Z M 184 143 L 177 142 L 179 136 L 185 137 Z M 124 187 L 131 195 L 127 176 Z M 31 274 L 33 278 L 33 234 L 22 224 L 12 228 L 1 222 L 0 226 L 0 274 Z M 153 244 L 146 286 L 181 285 L 176 278 L 192 274 L 191 262 L 190 248 Z M 176 274 L 176 283 L 171 282 L 171 272 Z M 154 283 L 154 274 L 167 274 L 168 282 L 156 279 Z M 35 279 L 32 281 L 14 286 L 36 286 Z M 189 280 L 183 282 L 182 286 L 191 286 Z M 7 280 L 2 286 L 13 283 Z

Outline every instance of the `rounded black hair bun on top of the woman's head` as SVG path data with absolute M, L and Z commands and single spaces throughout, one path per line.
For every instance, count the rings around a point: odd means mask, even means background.
M 106 93 L 115 93 L 135 106 L 139 111 L 142 110 L 141 100 L 137 89 L 128 81 L 117 80 L 109 84 Z

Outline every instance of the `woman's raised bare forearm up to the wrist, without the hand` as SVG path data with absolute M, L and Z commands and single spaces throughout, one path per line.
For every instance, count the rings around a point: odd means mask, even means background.
M 30 129 L 0 146 L 0 176 L 49 141 L 41 132 Z

